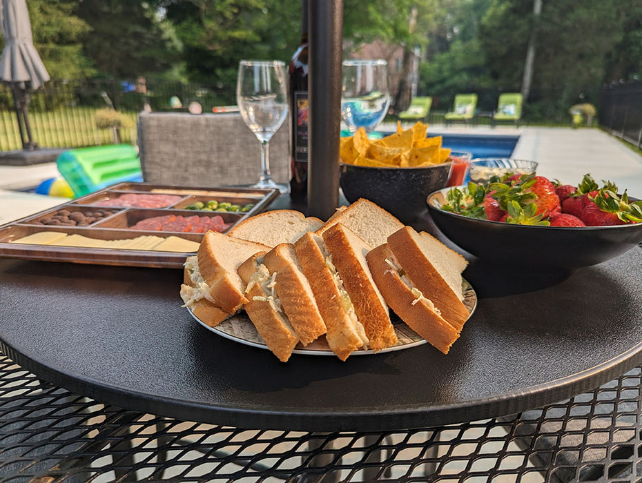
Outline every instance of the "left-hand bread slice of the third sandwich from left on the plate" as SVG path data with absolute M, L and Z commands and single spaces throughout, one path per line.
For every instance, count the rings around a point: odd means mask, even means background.
M 305 233 L 295 242 L 294 248 L 326 325 L 328 345 L 344 361 L 353 351 L 368 346 L 368 338 L 357 320 L 350 296 L 321 237 Z

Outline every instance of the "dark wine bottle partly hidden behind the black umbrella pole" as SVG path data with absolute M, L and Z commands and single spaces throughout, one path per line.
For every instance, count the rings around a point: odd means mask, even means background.
M 290 197 L 295 201 L 303 201 L 308 191 L 308 0 L 301 3 L 301 45 L 288 68 Z

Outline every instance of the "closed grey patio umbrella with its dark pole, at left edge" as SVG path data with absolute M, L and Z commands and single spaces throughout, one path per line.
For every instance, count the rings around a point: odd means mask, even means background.
M 0 32 L 6 42 L 0 57 L 0 80 L 11 88 L 22 146 L 32 150 L 37 144 L 33 141 L 27 115 L 29 90 L 41 87 L 49 80 L 49 74 L 33 46 L 25 0 L 0 0 Z

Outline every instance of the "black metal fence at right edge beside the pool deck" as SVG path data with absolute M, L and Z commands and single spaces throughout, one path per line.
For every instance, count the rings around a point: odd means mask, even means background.
M 599 121 L 612 135 L 642 148 L 642 81 L 604 87 Z

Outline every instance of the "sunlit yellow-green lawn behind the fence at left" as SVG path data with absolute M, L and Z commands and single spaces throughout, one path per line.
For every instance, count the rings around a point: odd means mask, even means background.
M 78 148 L 113 144 L 110 129 L 96 127 L 97 108 L 63 108 L 46 112 L 29 112 L 34 140 L 41 147 Z M 136 126 L 137 112 L 125 112 Z M 136 128 L 121 129 L 121 142 L 136 144 Z M 0 111 L 0 151 L 21 149 L 15 112 Z

